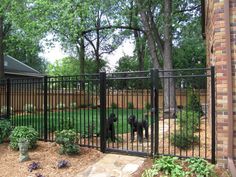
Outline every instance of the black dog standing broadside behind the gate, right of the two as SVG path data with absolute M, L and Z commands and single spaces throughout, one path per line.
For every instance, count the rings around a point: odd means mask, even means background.
M 131 128 L 131 142 L 134 141 L 134 132 L 137 132 L 138 141 L 143 142 L 143 129 L 145 130 L 145 138 L 148 139 L 148 116 L 145 119 L 138 121 L 134 115 L 129 116 L 128 123 Z

